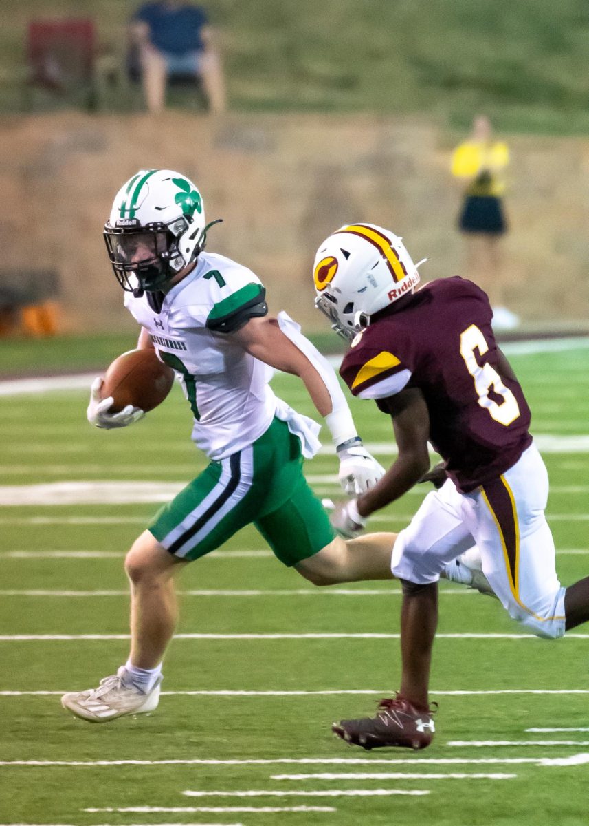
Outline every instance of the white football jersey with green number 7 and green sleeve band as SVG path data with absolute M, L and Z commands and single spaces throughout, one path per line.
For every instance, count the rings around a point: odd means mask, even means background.
M 192 439 L 213 460 L 259 439 L 276 412 L 277 399 L 268 386 L 272 368 L 221 332 L 241 308 L 259 306 L 264 297 L 262 282 L 251 270 L 205 252 L 167 292 L 159 312 L 147 294 L 135 298 L 125 292 L 125 306 L 148 330 L 158 357 L 180 377 L 194 415 Z

